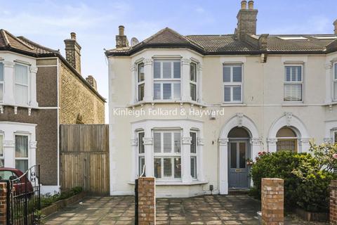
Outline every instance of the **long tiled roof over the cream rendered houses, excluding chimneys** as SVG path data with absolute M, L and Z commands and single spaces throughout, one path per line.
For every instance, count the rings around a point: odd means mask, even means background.
M 267 36 L 266 49 L 251 41 L 239 40 L 236 34 L 183 36 L 169 27 L 160 30 L 135 46 L 105 51 L 107 56 L 131 56 L 145 48 L 188 48 L 204 55 L 265 53 L 328 53 L 337 49 L 336 39 L 317 39 L 315 36 L 333 34 L 293 34 Z M 305 40 L 284 40 L 279 37 L 305 37 Z M 259 35 L 251 36 L 258 43 Z M 327 48 L 327 46 L 330 46 Z

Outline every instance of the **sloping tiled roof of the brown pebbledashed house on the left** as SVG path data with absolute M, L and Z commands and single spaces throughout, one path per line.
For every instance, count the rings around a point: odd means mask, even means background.
M 81 81 L 88 86 L 91 91 L 93 91 L 94 94 L 96 94 L 102 101 L 106 102 L 105 98 L 101 96 L 98 91 L 93 89 L 93 87 L 86 82 L 86 79 L 82 77 L 77 70 L 75 70 L 70 63 L 67 62 L 67 60 L 61 55 L 59 50 L 53 50 L 49 49 L 45 46 L 41 46 L 40 44 L 35 43 L 34 41 L 31 41 L 25 37 L 15 37 L 10 32 L 0 29 L 0 51 L 13 51 L 17 53 L 21 53 L 27 56 L 32 57 L 58 57 L 62 61 L 62 63 L 65 63 L 72 72 L 74 72 L 74 75 L 79 77 Z

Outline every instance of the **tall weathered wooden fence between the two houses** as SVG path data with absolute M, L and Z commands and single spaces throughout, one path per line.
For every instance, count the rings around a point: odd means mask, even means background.
M 109 125 L 60 125 L 60 184 L 62 190 L 109 193 Z

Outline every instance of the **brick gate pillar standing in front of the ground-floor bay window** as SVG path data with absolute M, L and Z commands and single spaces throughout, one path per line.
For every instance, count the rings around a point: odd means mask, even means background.
M 156 224 L 156 195 L 154 177 L 138 178 L 138 224 Z

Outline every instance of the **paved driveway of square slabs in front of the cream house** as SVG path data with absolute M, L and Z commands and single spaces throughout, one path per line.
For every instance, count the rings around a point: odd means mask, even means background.
M 134 224 L 133 198 L 87 197 L 46 218 L 46 224 Z M 258 210 L 260 203 L 246 195 L 160 198 L 157 224 L 258 224 Z M 309 224 L 287 220 L 285 224 Z

